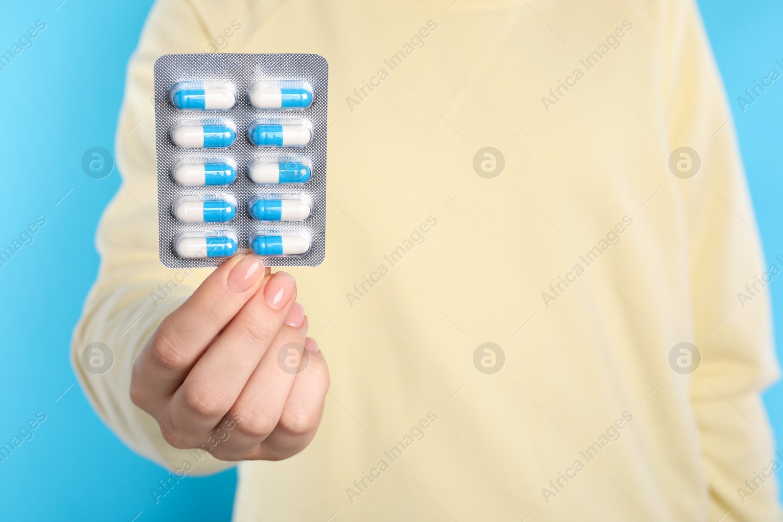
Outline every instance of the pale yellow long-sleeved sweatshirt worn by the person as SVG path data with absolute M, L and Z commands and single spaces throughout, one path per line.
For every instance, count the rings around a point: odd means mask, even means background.
M 734 127 L 695 5 L 645 4 L 157 2 L 74 335 L 96 411 L 171 477 L 230 465 L 171 448 L 128 398 L 208 273 L 158 261 L 153 63 L 315 52 L 327 257 L 291 272 L 332 384 L 309 448 L 240 464 L 235 520 L 783 520 Z M 92 342 L 108 373 L 78 362 Z

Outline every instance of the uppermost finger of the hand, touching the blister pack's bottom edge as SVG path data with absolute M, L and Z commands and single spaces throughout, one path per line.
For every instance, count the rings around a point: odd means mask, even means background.
M 171 312 L 135 362 L 133 394 L 166 398 L 185 380 L 212 340 L 256 293 L 269 268 L 255 254 L 220 265 Z

